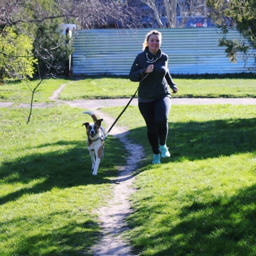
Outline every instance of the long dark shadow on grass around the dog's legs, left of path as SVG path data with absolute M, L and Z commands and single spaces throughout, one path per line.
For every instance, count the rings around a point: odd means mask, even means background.
M 105 156 L 100 163 L 97 176 L 92 175 L 92 161 L 85 141 L 58 141 L 51 145 L 40 145 L 40 148 L 66 145 L 68 149 L 33 154 L 17 158 L 11 163 L 3 163 L 0 179 L 4 179 L 4 183 L 21 182 L 22 184 L 28 184 L 31 180 L 40 179 L 41 177 L 44 177 L 45 180 L 36 186 L 20 189 L 0 198 L 1 204 L 16 200 L 24 193 L 42 193 L 51 191 L 54 187 L 70 188 L 80 185 L 109 183 L 111 180 L 106 177 L 115 177 L 116 165 L 122 165 L 125 162 L 125 156 L 120 155 L 120 147 L 115 146 L 118 145 L 117 140 L 117 138 L 108 140 Z M 116 163 L 116 159 L 119 159 L 119 163 Z

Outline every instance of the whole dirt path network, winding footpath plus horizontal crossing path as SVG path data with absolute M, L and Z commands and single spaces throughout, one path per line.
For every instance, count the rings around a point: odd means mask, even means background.
M 58 97 L 67 84 L 63 84 L 56 90 L 50 99 L 55 100 L 56 103 L 65 103 L 72 107 L 85 108 L 93 111 L 99 118 L 104 119 L 106 129 L 115 121 L 111 116 L 106 115 L 100 111 L 100 108 L 111 106 L 125 106 L 129 99 L 113 99 L 113 100 L 74 100 L 65 102 L 58 100 Z M 256 99 L 172 99 L 172 104 L 256 104 Z M 36 104 L 35 104 L 36 105 Z M 42 104 L 38 104 L 39 107 Z M 131 105 L 137 106 L 137 99 L 132 100 Z M 0 102 L 0 107 L 12 106 L 12 102 Z M 49 106 L 49 105 L 45 105 Z M 116 136 L 124 143 L 129 157 L 127 157 L 127 164 L 120 170 L 118 177 L 113 180 L 111 186 L 113 187 L 113 197 L 108 202 L 106 207 L 97 209 L 99 215 L 100 225 L 103 228 L 102 237 L 99 243 L 93 246 L 92 251 L 94 256 L 117 256 L 117 255 L 132 255 L 129 241 L 125 241 L 122 234 L 127 230 L 125 218 L 131 214 L 132 209 L 129 202 L 132 189 L 132 182 L 134 182 L 134 170 L 138 167 L 137 164 L 144 157 L 143 147 L 136 145 L 127 139 L 127 128 L 115 125 L 111 130 L 111 135 Z

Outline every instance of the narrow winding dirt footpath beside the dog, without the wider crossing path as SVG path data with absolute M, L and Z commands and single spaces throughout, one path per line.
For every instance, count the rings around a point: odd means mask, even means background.
M 56 100 L 56 102 L 65 102 L 58 100 L 61 90 L 63 90 L 65 86 L 66 84 L 63 84 L 56 90 L 52 94 L 51 99 Z M 108 131 L 109 127 L 115 122 L 115 118 L 100 111 L 98 104 L 94 104 L 94 108 L 90 108 L 90 106 L 85 107 L 83 104 L 74 105 L 72 102 L 65 103 L 73 107 L 86 108 L 93 111 L 98 118 L 103 118 L 104 124 L 106 124 L 106 131 Z M 99 216 L 100 226 L 103 232 L 99 243 L 95 244 L 92 248 L 94 256 L 132 255 L 132 248 L 129 245 L 129 241 L 125 241 L 124 237 L 122 237 L 122 233 L 128 228 L 125 223 L 125 218 L 132 212 L 129 198 L 134 192 L 131 186 L 135 179 L 133 172 L 136 170 L 140 160 L 143 159 L 144 152 L 143 147 L 127 139 L 127 134 L 128 131 L 126 127 L 115 125 L 111 130 L 111 136 L 116 136 L 124 143 L 129 156 L 127 157 L 126 165 L 120 169 L 118 177 L 111 183 L 113 187 L 113 197 L 111 201 L 109 201 L 105 207 L 101 207 L 95 211 Z

